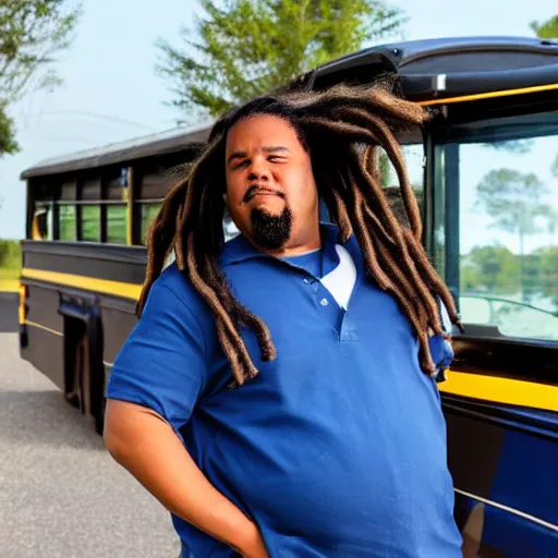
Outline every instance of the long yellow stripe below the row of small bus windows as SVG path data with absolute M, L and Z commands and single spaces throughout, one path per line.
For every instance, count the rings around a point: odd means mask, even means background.
M 63 284 L 64 287 L 74 287 L 76 289 L 113 294 L 116 296 L 124 296 L 133 300 L 140 299 L 143 287 L 136 283 L 109 281 L 107 279 L 96 279 L 95 277 L 60 274 L 58 271 L 46 271 L 44 269 L 32 269 L 28 267 L 22 269 L 22 278 L 36 279 L 38 281 L 47 281 L 49 283 Z

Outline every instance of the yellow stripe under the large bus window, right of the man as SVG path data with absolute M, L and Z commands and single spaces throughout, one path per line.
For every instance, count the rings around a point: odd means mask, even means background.
M 453 396 L 484 399 L 545 411 L 558 411 L 558 386 L 450 371 L 439 390 Z

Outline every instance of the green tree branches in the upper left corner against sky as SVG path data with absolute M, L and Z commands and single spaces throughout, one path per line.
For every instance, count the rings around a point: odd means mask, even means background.
M 52 70 L 70 43 L 81 12 L 66 0 L 0 2 L 0 157 L 17 150 L 14 122 L 7 110 L 25 94 L 60 84 Z

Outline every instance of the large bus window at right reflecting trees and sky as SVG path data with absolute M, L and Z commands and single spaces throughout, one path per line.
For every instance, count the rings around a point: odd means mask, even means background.
M 437 147 L 437 168 L 453 169 L 437 182 L 454 216 L 445 219 L 446 280 L 465 326 L 558 340 L 558 114 L 481 126 Z

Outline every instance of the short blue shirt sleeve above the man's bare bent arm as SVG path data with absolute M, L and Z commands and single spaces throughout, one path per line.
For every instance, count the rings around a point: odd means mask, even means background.
M 178 429 L 190 420 L 206 374 L 198 322 L 184 300 L 155 282 L 114 362 L 107 397 L 153 409 Z

